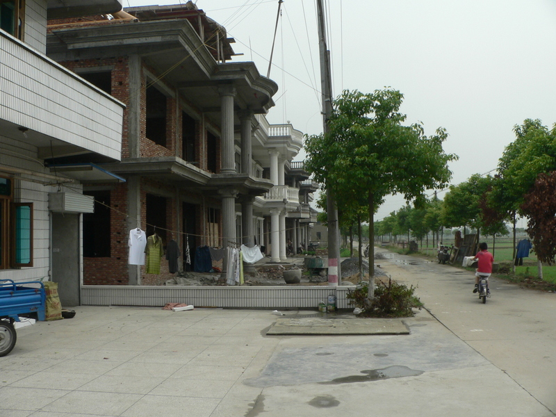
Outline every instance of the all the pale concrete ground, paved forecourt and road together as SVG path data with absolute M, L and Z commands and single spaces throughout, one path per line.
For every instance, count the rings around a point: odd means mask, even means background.
M 409 261 L 384 265 L 432 311 L 407 335 L 268 336 L 271 310 L 116 306 L 23 327 L 0 416 L 554 417 L 556 295 L 493 281 L 483 305 L 471 274 Z

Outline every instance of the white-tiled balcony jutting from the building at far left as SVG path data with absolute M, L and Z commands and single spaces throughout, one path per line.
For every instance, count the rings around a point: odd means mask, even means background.
M 96 154 L 118 161 L 124 104 L 0 31 L 0 131 L 39 158 Z

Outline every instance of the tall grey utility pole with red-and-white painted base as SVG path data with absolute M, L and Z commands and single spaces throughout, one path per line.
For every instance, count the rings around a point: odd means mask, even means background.
M 320 84 L 322 90 L 322 122 L 323 132 L 328 133 L 328 120 L 332 115 L 332 76 L 330 72 L 330 51 L 326 44 L 325 9 L 322 0 L 317 0 L 318 44 L 320 51 Z M 340 269 L 340 226 L 338 224 L 338 209 L 334 195 L 327 190 L 326 195 L 328 215 L 328 285 L 341 284 Z

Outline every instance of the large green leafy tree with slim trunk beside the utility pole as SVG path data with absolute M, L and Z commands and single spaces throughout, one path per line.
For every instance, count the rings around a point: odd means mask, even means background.
M 403 95 L 387 88 L 363 94 L 345 90 L 334 100 L 327 135 L 309 136 L 305 167 L 325 185 L 336 201 L 367 199 L 369 240 L 374 241 L 374 215 L 390 194 L 401 193 L 407 201 L 423 199 L 424 190 L 450 181 L 448 162 L 457 157 L 445 154 L 444 129 L 427 137 L 423 126 L 403 126 L 400 113 Z M 369 251 L 369 300 L 373 300 L 374 247 Z

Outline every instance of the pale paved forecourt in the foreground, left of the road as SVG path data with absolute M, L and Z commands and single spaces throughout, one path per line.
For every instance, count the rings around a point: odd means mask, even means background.
M 269 335 L 280 320 L 270 310 L 76 311 L 71 320 L 18 331 L 15 349 L 0 358 L 0 416 L 554 417 L 425 310 L 402 320 L 409 334 L 357 336 Z M 302 320 L 318 313 L 286 314 L 282 319 Z M 52 359 L 95 333 L 100 345 Z M 128 339 L 129 355 L 101 356 L 115 345 L 125 351 Z

